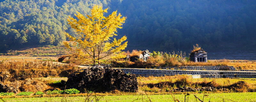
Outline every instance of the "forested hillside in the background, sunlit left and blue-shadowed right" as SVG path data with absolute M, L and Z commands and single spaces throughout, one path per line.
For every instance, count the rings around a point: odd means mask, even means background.
M 255 0 L 1 0 L 0 50 L 60 44 L 64 32 L 76 35 L 68 16 L 89 14 L 93 3 L 127 17 L 118 32 L 128 49 L 256 46 Z

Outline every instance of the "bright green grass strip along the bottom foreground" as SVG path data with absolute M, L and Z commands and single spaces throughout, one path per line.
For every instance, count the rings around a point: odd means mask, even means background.
M 191 94 L 188 96 L 188 102 L 196 102 L 196 95 L 201 100 L 204 94 Z M 208 93 L 204 97 L 204 102 L 256 102 L 256 92 L 244 92 L 244 93 Z M 180 102 L 184 102 L 184 94 L 174 95 Z M 99 97 L 99 96 L 98 96 Z M 148 95 L 152 102 L 174 102 L 171 94 L 165 95 Z M 103 96 L 100 98 L 100 102 L 148 102 L 147 95 L 113 95 Z M 91 97 L 91 99 L 95 97 Z M 42 97 L 42 98 L 3 98 L 6 102 L 84 102 L 86 96 L 81 97 Z M 142 100 L 143 99 L 143 100 Z M 232 101 L 231 101 L 232 100 Z M 95 100 L 93 101 L 95 102 Z M 199 102 L 197 100 L 197 102 Z

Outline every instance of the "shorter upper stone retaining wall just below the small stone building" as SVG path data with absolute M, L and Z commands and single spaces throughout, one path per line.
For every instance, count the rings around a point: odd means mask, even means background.
M 157 67 L 157 69 L 172 70 L 236 70 L 233 66 L 167 66 Z

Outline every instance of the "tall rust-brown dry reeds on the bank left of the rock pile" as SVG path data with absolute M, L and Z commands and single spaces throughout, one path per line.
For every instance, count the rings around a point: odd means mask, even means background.
M 52 62 L 0 62 L 0 81 L 24 80 L 36 77 L 67 77 L 78 67 L 58 65 Z

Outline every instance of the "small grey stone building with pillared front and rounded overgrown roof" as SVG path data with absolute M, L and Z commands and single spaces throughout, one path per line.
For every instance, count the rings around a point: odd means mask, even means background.
M 191 52 L 189 59 L 193 62 L 207 62 L 207 52 L 200 48 L 199 50 Z

